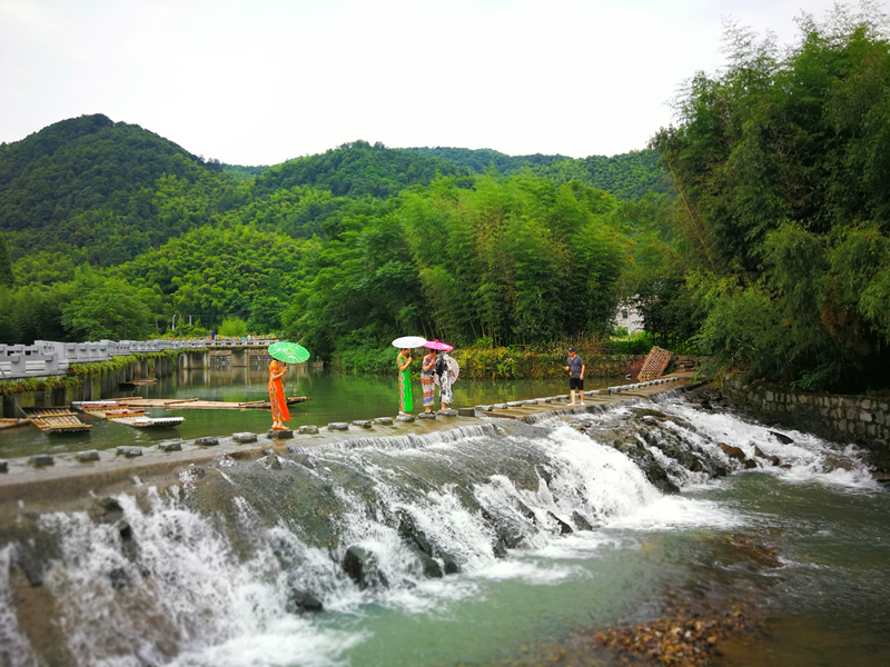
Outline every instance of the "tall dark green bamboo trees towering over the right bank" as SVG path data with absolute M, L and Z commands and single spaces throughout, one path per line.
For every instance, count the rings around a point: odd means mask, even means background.
M 674 178 L 704 352 L 805 388 L 890 370 L 890 42 L 837 8 L 788 50 L 730 27 L 653 145 Z M 679 282 L 673 279 L 674 285 Z M 682 296 L 680 296 L 682 293 Z

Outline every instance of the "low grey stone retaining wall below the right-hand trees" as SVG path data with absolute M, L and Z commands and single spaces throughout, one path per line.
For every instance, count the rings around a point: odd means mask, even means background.
M 723 391 L 743 407 L 828 440 L 887 449 L 890 400 L 795 391 L 764 382 L 723 378 Z

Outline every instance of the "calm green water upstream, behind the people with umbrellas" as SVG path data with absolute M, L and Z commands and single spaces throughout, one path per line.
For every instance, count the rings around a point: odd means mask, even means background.
M 251 357 L 253 361 L 261 357 Z M 268 357 L 266 358 L 268 360 Z M 216 362 L 228 357 L 212 358 Z M 268 366 L 268 362 L 266 364 Z M 246 402 L 268 400 L 268 368 L 210 368 L 207 370 L 179 370 L 175 376 L 161 378 L 156 385 L 136 389 L 119 389 L 97 398 L 200 398 Z M 306 396 L 312 400 L 289 406 L 288 426 L 298 428 L 314 424 L 326 426 L 332 421 L 374 419 L 398 414 L 398 387 L 395 377 L 379 375 L 337 374 L 330 370 L 290 365 L 285 376 L 287 396 Z M 587 389 L 614 385 L 616 380 L 589 379 Z M 550 396 L 568 391 L 564 380 L 469 380 L 458 379 L 454 385 L 454 407 L 504 402 L 515 397 Z M 423 389 L 419 380 L 413 382 L 414 412 L 423 411 Z M 439 408 L 438 402 L 434 405 Z M 181 437 L 230 436 L 234 432 L 264 432 L 271 426 L 269 410 L 195 410 L 149 408 L 150 417 L 185 417 L 185 421 L 169 429 L 135 429 L 105 419 L 82 417 L 92 425 L 86 434 L 42 434 L 33 427 L 19 427 L 0 431 L 0 458 L 32 456 L 82 449 L 110 449 L 118 445 L 149 445 L 155 440 Z

